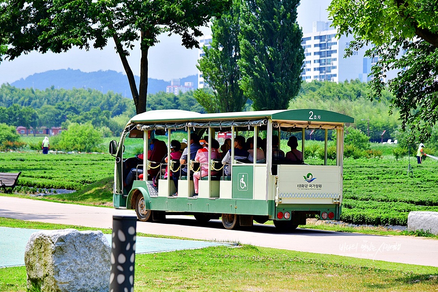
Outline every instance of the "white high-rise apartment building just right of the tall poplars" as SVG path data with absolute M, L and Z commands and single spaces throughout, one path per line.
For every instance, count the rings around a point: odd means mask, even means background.
M 301 77 L 305 81 L 328 80 L 344 82 L 359 79 L 369 81 L 372 60 L 365 57 L 364 47 L 353 51 L 353 55 L 344 58 L 345 49 L 354 38 L 341 36 L 336 38 L 336 29 L 330 29 L 331 22 L 313 22 L 313 32 L 303 34 L 301 45 L 304 48 L 304 64 Z

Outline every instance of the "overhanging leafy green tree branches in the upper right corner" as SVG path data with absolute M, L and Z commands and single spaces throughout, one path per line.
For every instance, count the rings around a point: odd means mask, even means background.
M 366 55 L 378 58 L 372 68 L 370 98 L 381 99 L 385 86 L 400 109 L 402 129 L 411 140 L 425 141 L 438 120 L 438 14 L 435 0 L 333 0 L 329 6 L 338 34 L 353 34 L 350 50 L 368 42 Z M 389 70 L 400 70 L 386 80 Z

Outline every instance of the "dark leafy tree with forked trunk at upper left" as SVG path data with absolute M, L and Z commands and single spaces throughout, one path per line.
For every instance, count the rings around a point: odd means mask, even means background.
M 178 34 L 186 48 L 198 47 L 200 27 L 219 16 L 230 0 L 5 0 L 0 5 L 1 58 L 31 51 L 66 52 L 73 46 L 104 48 L 113 39 L 128 76 L 137 113 L 146 110 L 148 49 L 162 33 Z M 140 85 L 128 64 L 140 41 Z M 4 52 L 6 50 L 6 52 Z

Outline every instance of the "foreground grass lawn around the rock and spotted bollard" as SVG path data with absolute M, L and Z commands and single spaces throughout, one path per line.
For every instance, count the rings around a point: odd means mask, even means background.
M 244 245 L 136 255 L 142 291 L 418 291 L 438 268 Z M 25 267 L 0 269 L 0 291 L 26 291 Z

